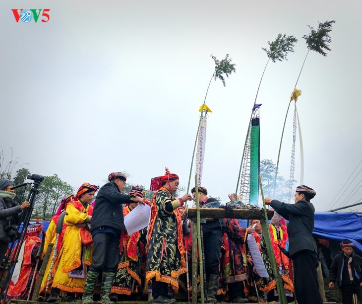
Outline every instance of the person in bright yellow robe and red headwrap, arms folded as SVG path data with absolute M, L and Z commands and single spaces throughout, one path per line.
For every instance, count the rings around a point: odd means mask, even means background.
M 75 293 L 84 293 L 87 267 L 92 263 L 93 241 L 89 231 L 93 207 L 89 205 L 97 186 L 84 183 L 77 191 L 74 201 L 66 207 L 66 225 L 58 253 L 58 267 L 53 279 L 48 302 L 56 302 L 60 291 L 68 295 L 67 302 L 76 300 Z

